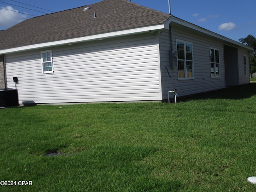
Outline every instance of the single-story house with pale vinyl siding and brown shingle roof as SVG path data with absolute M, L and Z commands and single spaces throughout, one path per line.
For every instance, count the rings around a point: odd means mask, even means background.
M 162 101 L 250 83 L 252 48 L 127 0 L 27 19 L 0 42 L 1 86 L 17 77 L 20 104 Z

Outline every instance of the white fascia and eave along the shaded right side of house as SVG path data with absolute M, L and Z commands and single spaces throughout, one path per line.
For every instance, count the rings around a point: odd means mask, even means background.
M 196 31 L 198 31 L 198 32 L 207 34 L 207 35 L 212 36 L 212 37 L 214 37 L 214 38 L 218 38 L 218 39 L 220 39 L 220 40 L 222 40 L 222 41 L 225 41 L 225 42 L 228 42 L 228 43 L 231 43 L 231 44 L 235 44 L 236 46 L 240 46 L 240 47 L 246 48 L 247 50 L 253 51 L 253 48 L 251 48 L 251 47 L 249 47 L 249 46 L 247 46 L 247 45 L 244 45 L 244 44 L 242 44 L 242 43 L 240 43 L 240 42 L 237 42 L 237 41 L 235 41 L 235 40 L 232 40 L 232 39 L 227 38 L 227 37 L 225 37 L 225 36 L 222 36 L 222 35 L 220 35 L 220 34 L 214 33 L 214 32 L 212 32 L 212 31 L 210 31 L 210 30 L 204 29 L 204 28 L 202 28 L 202 27 L 200 27 L 200 26 L 197 26 L 197 25 L 192 24 L 192 23 L 190 23 L 190 22 L 187 22 L 187 21 L 185 21 L 185 20 L 179 19 L 179 18 L 177 18 L 177 17 L 172 16 L 172 17 L 170 18 L 170 22 L 169 22 L 169 23 L 171 23 L 171 22 L 174 22 L 174 23 L 177 23 L 177 24 L 186 26 L 186 27 L 188 27 L 188 28 L 190 28 L 190 29 L 193 29 L 193 30 L 196 30 Z

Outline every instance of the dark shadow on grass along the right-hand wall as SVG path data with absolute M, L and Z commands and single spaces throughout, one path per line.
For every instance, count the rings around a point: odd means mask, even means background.
M 234 99 L 240 100 L 251 98 L 256 95 L 256 83 L 245 84 L 240 86 L 232 86 L 220 90 L 193 94 L 189 96 L 178 97 L 178 102 L 188 100 L 202 100 L 202 99 Z

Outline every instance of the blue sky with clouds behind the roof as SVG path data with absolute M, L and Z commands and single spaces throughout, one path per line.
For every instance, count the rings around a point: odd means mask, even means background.
M 0 30 L 7 29 L 27 18 L 90 5 L 99 1 L 0 0 Z M 169 13 L 168 0 L 131 1 Z M 256 15 L 254 14 L 256 0 L 170 0 L 170 4 L 172 15 L 230 39 L 238 41 L 249 34 L 256 37 Z

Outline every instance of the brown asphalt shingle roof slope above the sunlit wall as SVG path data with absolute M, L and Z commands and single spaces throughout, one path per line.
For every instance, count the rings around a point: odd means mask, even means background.
M 91 8 L 84 11 L 84 8 L 89 6 Z M 103 0 L 83 7 L 30 18 L 0 31 L 0 50 L 162 24 L 168 18 L 169 14 L 127 0 Z

